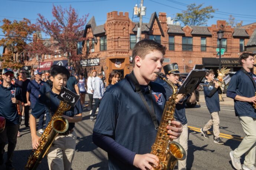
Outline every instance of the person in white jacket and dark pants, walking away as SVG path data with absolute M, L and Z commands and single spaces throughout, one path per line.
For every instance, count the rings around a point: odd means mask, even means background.
M 94 99 L 94 107 L 92 109 L 92 115 L 90 120 L 94 120 L 94 115 L 96 113 L 99 104 L 101 103 L 101 98 L 105 92 L 104 83 L 102 81 L 103 74 L 101 71 L 98 72 L 98 76 L 95 77 L 94 81 L 94 92 L 93 92 L 93 99 Z

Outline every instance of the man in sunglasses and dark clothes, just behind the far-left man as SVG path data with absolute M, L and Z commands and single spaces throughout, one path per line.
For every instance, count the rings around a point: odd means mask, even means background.
M 26 93 L 27 93 L 27 85 L 29 84 L 30 80 L 27 79 L 26 70 L 21 69 L 19 71 L 20 77 L 16 79 L 15 85 L 19 86 L 22 91 L 22 102 L 27 103 Z M 24 106 L 24 124 L 27 128 L 29 128 L 29 106 Z

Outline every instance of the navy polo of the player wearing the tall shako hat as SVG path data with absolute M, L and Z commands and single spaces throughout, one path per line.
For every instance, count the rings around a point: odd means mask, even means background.
M 163 86 L 166 91 L 166 98 L 169 99 L 173 94 L 173 89 L 169 85 L 167 85 L 167 83 L 165 83 Z M 180 89 L 180 86 L 178 86 L 178 89 Z M 188 94 L 184 99 L 181 99 L 181 101 L 179 101 L 179 103 L 176 103 L 175 105 L 174 118 L 175 120 L 179 121 L 182 125 L 185 125 L 188 122 L 185 111 L 185 103 L 189 96 L 190 95 Z

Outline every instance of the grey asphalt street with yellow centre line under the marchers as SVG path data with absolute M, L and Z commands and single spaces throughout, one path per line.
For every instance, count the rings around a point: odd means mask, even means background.
M 87 101 L 87 100 L 86 100 Z M 200 133 L 205 123 L 210 119 L 210 113 L 204 102 L 201 106 L 187 108 L 186 115 L 189 127 L 187 169 L 206 170 L 220 169 L 232 170 L 229 152 L 234 150 L 242 140 L 244 132 L 238 118 L 234 115 L 232 105 L 222 105 L 220 115 L 220 133 L 224 145 L 213 142 L 212 129 L 210 129 L 210 139 L 205 139 Z M 24 123 L 24 122 L 22 122 Z M 92 142 L 92 129 L 94 121 L 90 120 L 89 111 L 84 109 L 83 119 L 76 123 L 77 134 L 76 153 L 72 163 L 73 170 L 108 169 L 108 156 L 105 151 L 99 149 Z M 22 136 L 17 139 L 16 149 L 13 156 L 13 165 L 17 170 L 24 169 L 32 145 L 30 130 L 20 126 Z M 7 146 L 5 147 L 7 150 Z M 6 153 L 4 154 L 6 159 Z M 241 163 L 244 161 L 244 156 Z M 176 167 L 177 168 L 177 167 Z M 4 166 L 0 166 L 4 169 Z M 47 170 L 46 157 L 38 167 L 39 170 Z

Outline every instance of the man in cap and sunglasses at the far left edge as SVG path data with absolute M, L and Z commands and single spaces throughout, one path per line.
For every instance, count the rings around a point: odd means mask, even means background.
M 17 103 L 21 103 L 22 94 L 20 88 L 12 85 L 14 76 L 12 69 L 4 68 L 2 72 L 3 83 L 0 85 L 0 116 L 6 119 L 4 131 L 0 133 L 0 165 L 3 164 L 4 146 L 8 141 L 6 169 L 14 169 L 12 165 L 13 152 L 17 143 L 17 134 L 19 129 L 19 115 L 17 112 Z

